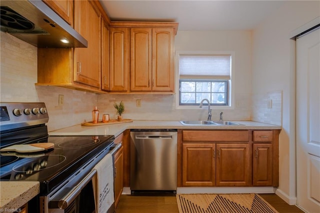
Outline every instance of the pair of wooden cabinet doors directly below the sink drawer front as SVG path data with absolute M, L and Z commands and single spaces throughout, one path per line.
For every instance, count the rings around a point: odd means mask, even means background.
M 249 144 L 182 143 L 182 186 L 248 186 L 250 159 Z

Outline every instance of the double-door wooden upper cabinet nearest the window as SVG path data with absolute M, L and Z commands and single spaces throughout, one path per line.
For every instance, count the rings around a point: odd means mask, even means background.
M 174 90 L 173 28 L 130 29 L 130 90 Z

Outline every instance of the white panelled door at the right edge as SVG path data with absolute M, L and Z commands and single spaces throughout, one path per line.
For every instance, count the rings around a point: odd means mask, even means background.
M 297 204 L 320 212 L 320 28 L 296 39 Z

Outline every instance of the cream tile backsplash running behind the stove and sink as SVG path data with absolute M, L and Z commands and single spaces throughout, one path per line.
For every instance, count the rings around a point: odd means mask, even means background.
M 36 86 L 37 48 L 0 32 L 0 101 L 45 102 L 49 113 L 48 130 L 79 124 L 91 120 L 91 110 L 96 105 L 102 113 L 115 119 L 114 102 L 123 100 L 124 118 L 146 120 L 191 120 L 206 119 L 205 107 L 176 109 L 175 94 L 94 94 L 56 86 Z M 64 95 L 64 104 L 58 105 L 58 95 Z M 267 108 L 267 99 L 272 99 L 272 108 Z M 136 99 L 141 106 L 136 106 Z M 233 109 L 212 109 L 212 120 L 255 120 L 281 124 L 281 92 L 268 94 L 237 94 Z M 100 115 L 101 117 L 101 115 Z

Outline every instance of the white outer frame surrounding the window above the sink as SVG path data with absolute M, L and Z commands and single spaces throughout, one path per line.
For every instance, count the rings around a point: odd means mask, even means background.
M 230 79 L 227 80 L 227 105 L 221 105 L 221 104 L 211 104 L 211 108 L 213 109 L 234 109 L 234 71 L 235 71 L 235 52 L 234 51 L 181 51 L 177 50 L 175 52 L 175 108 L 176 109 L 198 109 L 198 104 L 180 104 L 180 76 L 179 76 L 179 56 L 180 54 L 190 54 L 190 55 L 203 55 L 203 54 L 230 54 L 231 55 L 231 70 L 230 70 Z M 218 81 L 218 79 L 216 79 Z M 221 79 L 225 80 L 225 79 Z

